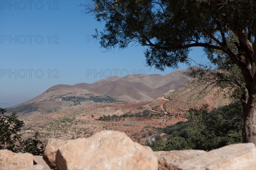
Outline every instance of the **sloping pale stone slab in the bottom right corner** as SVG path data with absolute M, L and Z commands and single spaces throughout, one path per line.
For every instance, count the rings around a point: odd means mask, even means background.
M 183 161 L 179 170 L 255 170 L 255 144 L 232 144 Z

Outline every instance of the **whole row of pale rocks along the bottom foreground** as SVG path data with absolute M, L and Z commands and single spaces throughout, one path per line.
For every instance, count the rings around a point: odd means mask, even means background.
M 125 133 L 101 131 L 75 140 L 48 139 L 44 156 L 0 150 L 1 170 L 255 170 L 256 146 L 153 152 Z

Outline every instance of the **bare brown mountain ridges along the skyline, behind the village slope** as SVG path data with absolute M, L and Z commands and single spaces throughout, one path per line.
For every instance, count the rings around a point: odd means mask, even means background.
M 164 76 L 159 74 L 137 74 L 122 78 L 112 76 L 92 84 L 58 84 L 47 89 L 39 97 L 79 92 L 81 94 L 111 96 L 117 101 L 149 101 L 168 92 L 170 89 L 178 89 L 183 84 L 186 84 L 192 79 L 185 74 L 188 70 L 180 69 Z

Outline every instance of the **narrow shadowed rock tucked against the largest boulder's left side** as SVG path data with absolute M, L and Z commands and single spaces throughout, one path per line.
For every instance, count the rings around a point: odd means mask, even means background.
M 43 159 L 52 169 L 56 167 L 56 153 L 58 148 L 67 143 L 67 141 L 58 138 L 49 138 L 44 144 L 44 156 Z

